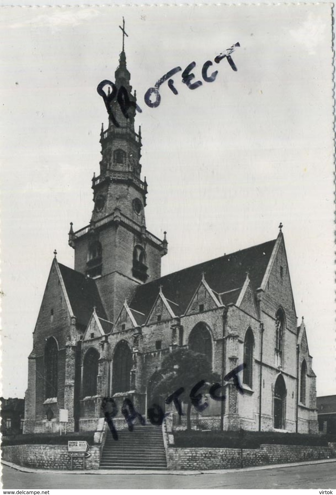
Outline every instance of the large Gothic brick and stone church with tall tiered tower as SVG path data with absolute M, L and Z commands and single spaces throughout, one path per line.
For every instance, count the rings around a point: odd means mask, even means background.
M 55 251 L 33 332 L 24 433 L 59 431 L 64 409 L 68 431 L 94 431 L 103 397 L 115 400 L 121 421 L 126 397 L 146 417 L 161 363 L 178 347 L 205 354 L 222 377 L 245 365 L 243 393 L 225 382 L 226 400 L 210 400 L 201 428 L 317 433 L 316 377 L 303 318 L 297 325 L 282 224 L 275 239 L 161 276 L 168 241 L 146 227 L 124 45 L 111 89 L 123 98 L 104 99 L 109 124 L 91 219 L 70 226 L 74 269 Z

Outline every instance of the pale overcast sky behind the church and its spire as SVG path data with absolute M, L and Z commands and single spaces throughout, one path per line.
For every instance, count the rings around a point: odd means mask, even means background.
M 101 80 L 127 68 L 142 110 L 147 229 L 167 231 L 162 274 L 283 233 L 317 394 L 336 393 L 331 4 L 2 8 L 2 395 L 23 397 L 32 332 L 69 223 L 88 224 L 99 173 Z M 276 19 L 276 22 L 274 22 Z M 208 60 L 233 44 L 237 66 Z M 192 62 L 202 86 L 173 76 Z

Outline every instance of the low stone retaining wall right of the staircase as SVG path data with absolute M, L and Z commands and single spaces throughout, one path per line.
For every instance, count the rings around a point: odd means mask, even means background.
M 336 453 L 329 447 L 261 445 L 255 449 L 168 447 L 168 469 L 230 469 L 304 460 L 328 459 Z

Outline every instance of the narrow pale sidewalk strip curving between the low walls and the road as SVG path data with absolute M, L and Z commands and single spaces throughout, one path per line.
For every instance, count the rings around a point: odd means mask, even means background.
M 336 458 L 334 459 L 320 459 L 316 461 L 302 461 L 302 462 L 292 462 L 288 464 L 272 464 L 269 466 L 252 466 L 252 467 L 246 467 L 242 469 L 208 469 L 204 471 L 199 471 L 199 470 L 193 470 L 193 471 L 168 471 L 168 470 L 162 470 L 162 471 L 152 471 L 150 469 L 145 470 L 134 470 L 131 471 L 129 469 L 91 469 L 87 471 L 83 470 L 74 470 L 74 471 L 67 471 L 65 469 L 34 469 L 34 468 L 29 468 L 29 467 L 24 467 L 24 466 L 18 466 L 17 464 L 13 464 L 12 462 L 7 462 L 1 459 L 1 464 L 4 466 L 11 467 L 12 469 L 16 469 L 17 471 L 21 471 L 23 473 L 39 473 L 39 474 L 100 474 L 100 475 L 141 475 L 141 474 L 153 474 L 153 475 L 160 475 L 160 474 L 172 474 L 172 475 L 179 475 L 179 476 L 190 476 L 190 475 L 198 475 L 198 474 L 230 474 L 230 473 L 241 473 L 244 471 L 263 471 L 263 470 L 268 470 L 268 469 L 279 469 L 279 468 L 285 468 L 285 467 L 294 467 L 294 466 L 307 466 L 311 464 L 325 464 L 325 463 L 330 463 L 330 462 L 335 462 L 336 463 Z

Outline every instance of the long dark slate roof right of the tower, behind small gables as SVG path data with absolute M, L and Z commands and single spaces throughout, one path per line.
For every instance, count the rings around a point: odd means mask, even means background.
M 248 247 L 138 286 L 129 307 L 145 313 L 147 317 L 161 285 L 165 297 L 178 304 L 178 307 L 173 305 L 175 314 L 178 316 L 184 314 L 201 282 L 202 273 L 213 291 L 217 294 L 225 293 L 221 296 L 223 304 L 235 303 L 244 285 L 247 272 L 249 272 L 252 290 L 255 291 L 260 287 L 275 242 L 276 239 Z

